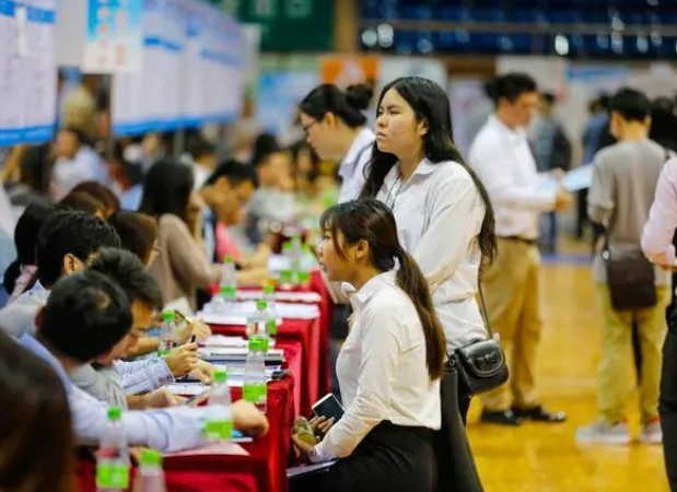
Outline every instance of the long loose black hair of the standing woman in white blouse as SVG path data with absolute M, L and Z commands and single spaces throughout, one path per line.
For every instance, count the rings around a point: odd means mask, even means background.
M 468 167 L 460 152 L 454 145 L 448 96 L 440 85 L 431 80 L 422 77 L 402 77 L 383 87 L 378 97 L 378 106 L 381 106 L 384 95 L 390 89 L 397 91 L 407 104 L 411 106 L 417 120 L 428 121 L 428 133 L 422 138 L 425 157 L 433 164 L 454 161 L 463 166 L 472 178 L 472 183 L 475 183 L 486 207 L 485 219 L 478 237 L 479 248 L 482 257 L 488 262 L 491 262 L 497 254 L 493 208 L 491 207 L 489 194 L 485 185 L 482 185 L 482 181 L 475 172 Z M 377 142 L 374 142 L 372 160 L 364 168 L 366 183 L 361 196 L 375 197 L 381 190 L 386 175 L 396 164 L 397 156 L 381 152 Z

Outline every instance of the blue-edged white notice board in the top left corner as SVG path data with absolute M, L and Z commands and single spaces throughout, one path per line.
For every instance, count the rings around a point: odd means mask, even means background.
M 52 136 L 55 21 L 56 0 L 0 0 L 0 147 Z

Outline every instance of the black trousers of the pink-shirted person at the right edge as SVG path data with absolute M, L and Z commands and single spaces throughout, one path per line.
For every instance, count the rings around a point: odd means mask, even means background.
M 663 453 L 670 490 L 677 492 L 677 309 L 667 309 L 667 336 L 663 344 L 663 373 L 658 412 L 663 429 Z

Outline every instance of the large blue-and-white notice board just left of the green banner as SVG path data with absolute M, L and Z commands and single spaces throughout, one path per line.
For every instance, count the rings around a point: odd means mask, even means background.
M 243 34 L 197 0 L 144 0 L 142 69 L 113 79 L 118 136 L 236 117 L 244 91 Z

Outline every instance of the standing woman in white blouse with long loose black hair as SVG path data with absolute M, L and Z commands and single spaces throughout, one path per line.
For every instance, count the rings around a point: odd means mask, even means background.
M 393 210 L 400 243 L 428 279 L 451 354 L 487 338 L 476 294 L 482 258 L 491 261 L 497 251 L 491 203 L 454 147 L 442 87 L 420 77 L 397 79 L 377 107 L 363 196 Z M 464 421 L 469 405 L 459 396 Z

